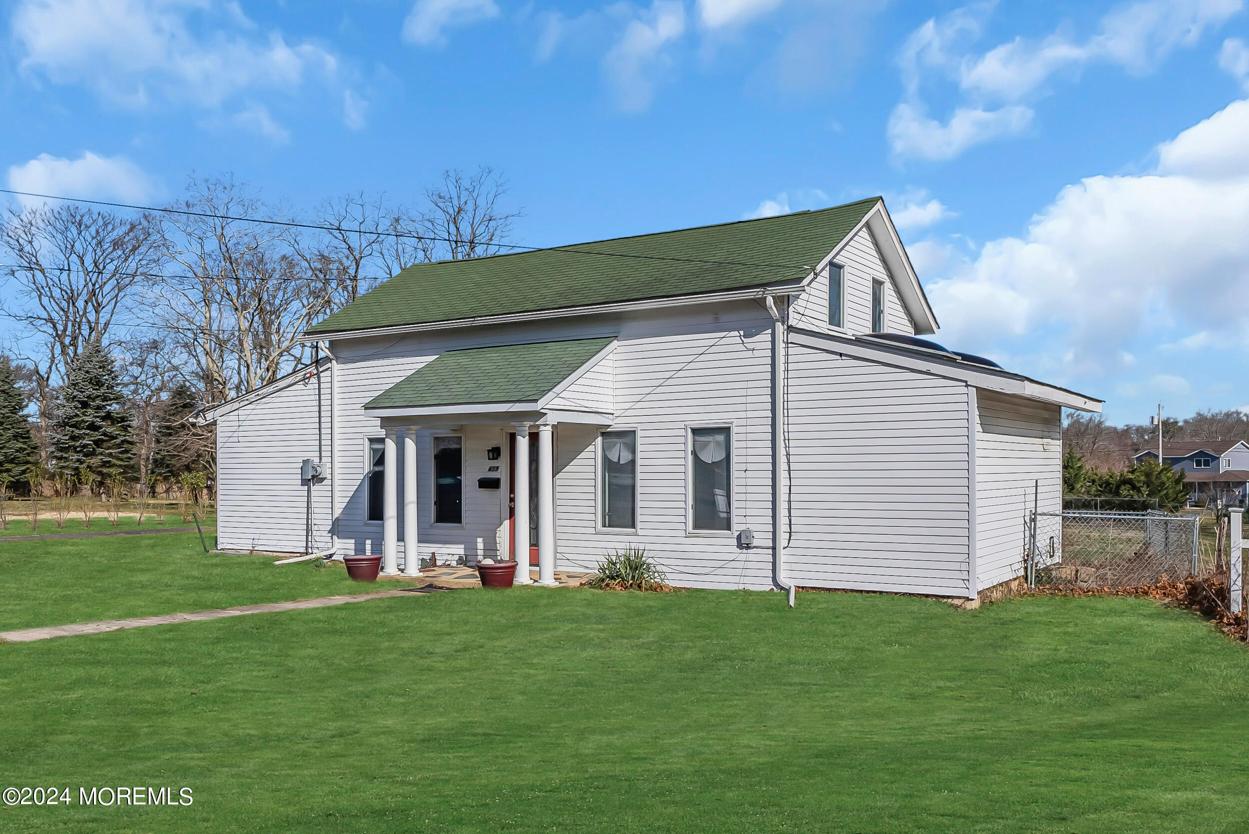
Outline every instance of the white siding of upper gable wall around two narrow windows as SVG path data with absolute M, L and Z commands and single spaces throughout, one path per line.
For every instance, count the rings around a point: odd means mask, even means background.
M 794 302 L 791 323 L 821 333 L 872 332 L 872 281 L 884 281 L 886 330 L 891 333 L 916 335 L 889 271 L 881 260 L 881 251 L 867 228 L 859 230 L 833 258 L 842 266 L 844 292 L 844 326 L 833 327 L 828 320 L 828 270 L 822 271 Z

